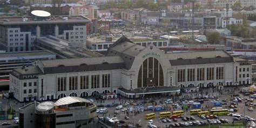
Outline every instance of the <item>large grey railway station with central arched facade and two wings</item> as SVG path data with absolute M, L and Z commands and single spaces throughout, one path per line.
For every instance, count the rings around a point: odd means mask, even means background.
M 251 69 L 247 60 L 225 51 L 165 53 L 153 44 L 144 47 L 122 37 L 104 57 L 38 60 L 15 69 L 10 78 L 17 82 L 10 82 L 10 92 L 20 102 L 108 92 L 129 98 L 173 95 L 180 87 L 251 84 Z

